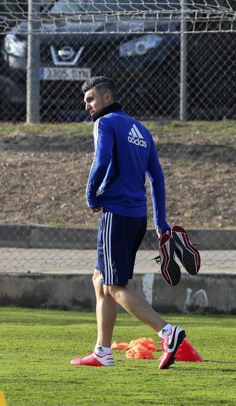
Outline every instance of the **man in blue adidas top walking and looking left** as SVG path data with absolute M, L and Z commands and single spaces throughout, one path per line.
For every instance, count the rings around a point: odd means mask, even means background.
M 118 104 L 113 80 L 103 76 L 90 78 L 82 90 L 86 110 L 94 121 L 95 152 L 86 198 L 92 212 L 103 208 L 103 213 L 98 261 L 92 278 L 97 298 L 97 344 L 92 352 L 71 364 L 114 365 L 111 342 L 119 303 L 158 333 L 163 350 L 159 369 L 168 369 L 174 363 L 185 330 L 168 324 L 146 299 L 127 287 L 147 227 L 145 174 L 151 184 L 159 240 L 163 233 L 171 231 L 165 220 L 165 184 L 157 151 L 148 129 Z

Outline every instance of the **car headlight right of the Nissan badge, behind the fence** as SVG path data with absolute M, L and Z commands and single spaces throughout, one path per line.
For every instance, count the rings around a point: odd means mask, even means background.
M 155 48 L 161 39 L 162 37 L 159 34 L 146 34 L 142 35 L 142 37 L 132 39 L 120 45 L 120 56 L 144 55 L 150 51 L 150 49 Z

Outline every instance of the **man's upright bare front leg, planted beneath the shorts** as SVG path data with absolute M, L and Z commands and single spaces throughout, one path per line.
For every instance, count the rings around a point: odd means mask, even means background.
M 112 333 L 116 322 L 117 304 L 112 298 L 105 296 L 101 284 L 100 272 L 94 269 L 92 282 L 97 298 L 97 344 L 109 348 L 112 343 Z

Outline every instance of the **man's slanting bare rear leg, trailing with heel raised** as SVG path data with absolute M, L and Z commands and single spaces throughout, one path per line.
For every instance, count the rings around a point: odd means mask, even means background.
M 116 300 L 126 311 L 157 333 L 166 326 L 167 322 L 152 309 L 148 301 L 127 286 L 103 285 L 103 291 L 107 297 Z

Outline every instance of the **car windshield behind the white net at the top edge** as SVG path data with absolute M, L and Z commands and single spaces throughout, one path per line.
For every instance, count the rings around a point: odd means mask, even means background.
M 180 0 L 58 0 L 50 13 L 160 11 L 179 8 Z

